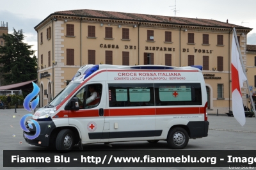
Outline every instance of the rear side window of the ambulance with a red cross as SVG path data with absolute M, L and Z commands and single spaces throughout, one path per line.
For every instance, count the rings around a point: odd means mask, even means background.
M 156 105 L 202 105 L 200 83 L 155 84 Z

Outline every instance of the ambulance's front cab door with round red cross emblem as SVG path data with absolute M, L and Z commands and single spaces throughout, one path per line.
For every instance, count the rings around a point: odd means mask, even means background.
M 92 85 L 95 86 L 100 101 L 90 105 L 86 104 L 86 98 L 91 95 L 88 88 Z M 79 111 L 70 111 L 69 124 L 79 128 L 83 143 L 97 143 L 102 140 L 106 116 L 106 82 L 90 82 L 79 89 L 75 96 L 79 99 Z M 108 140 L 103 139 L 103 142 Z

